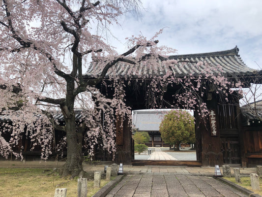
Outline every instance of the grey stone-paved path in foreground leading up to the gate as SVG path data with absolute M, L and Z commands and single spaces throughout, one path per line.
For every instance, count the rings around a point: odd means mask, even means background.
M 127 175 L 106 197 L 248 197 L 205 176 L 172 174 Z

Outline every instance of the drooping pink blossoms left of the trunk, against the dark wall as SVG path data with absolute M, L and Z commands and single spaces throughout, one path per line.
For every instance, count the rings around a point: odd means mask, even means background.
M 31 113 L 31 111 L 37 112 L 38 115 Z M 20 157 L 23 160 L 23 146 L 21 149 L 12 150 L 12 147 L 17 147 L 20 143 L 21 137 L 28 137 L 28 140 L 32 142 L 31 150 L 35 148 L 36 145 L 41 147 L 41 158 L 47 159 L 47 156 L 52 153 L 52 144 L 53 144 L 53 129 L 50 124 L 50 121 L 46 116 L 39 116 L 40 111 L 37 111 L 37 108 L 31 106 L 29 108 L 24 108 L 23 112 L 15 111 L 12 116 L 12 124 L 9 124 L 8 121 L 2 123 L 3 133 L 10 133 L 11 137 L 9 141 L 5 141 L 0 136 L 0 143 L 2 149 L 5 151 L 2 152 L 0 148 L 0 154 L 7 157 L 10 154 L 13 154 L 15 157 Z M 8 148 L 6 143 L 10 145 Z

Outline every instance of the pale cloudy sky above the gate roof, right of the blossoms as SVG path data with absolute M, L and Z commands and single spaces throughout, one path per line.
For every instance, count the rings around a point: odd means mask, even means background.
M 150 38 L 165 28 L 159 44 L 178 54 L 215 52 L 237 45 L 244 63 L 262 67 L 262 0 L 142 0 L 141 18 L 128 14 L 113 28 L 119 53 L 125 38 L 143 33 Z M 257 64 L 259 66 L 257 66 Z

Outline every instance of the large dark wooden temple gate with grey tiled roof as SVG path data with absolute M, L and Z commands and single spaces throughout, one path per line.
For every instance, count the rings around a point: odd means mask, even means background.
M 231 50 L 213 52 L 213 53 L 202 53 L 202 54 L 190 54 L 190 55 L 175 55 L 170 56 L 169 59 L 175 59 L 178 63 L 174 68 L 170 68 L 174 75 L 183 77 L 189 74 L 198 77 L 201 73 L 201 67 L 196 66 L 197 62 L 207 62 L 212 66 L 221 66 L 221 71 L 223 75 L 228 77 L 232 82 L 236 82 L 237 79 L 244 79 L 243 81 L 248 81 L 248 83 L 243 83 L 244 87 L 250 86 L 252 77 L 257 73 L 256 70 L 247 67 L 240 56 L 238 55 L 238 48 L 235 47 Z M 138 70 L 141 73 L 147 73 L 151 76 L 161 75 L 160 70 L 146 70 L 144 67 L 139 67 Z M 185 64 L 183 68 L 180 68 L 180 64 Z M 95 66 L 95 65 L 94 65 Z M 122 63 L 116 66 L 118 70 L 118 75 L 128 76 L 128 68 L 122 68 L 124 66 Z M 93 69 L 95 70 L 95 69 Z M 88 75 L 91 75 L 92 70 L 89 71 Z M 110 75 L 110 72 L 108 73 Z M 147 109 L 148 100 L 146 100 L 146 87 L 150 83 L 150 78 L 140 79 L 135 75 L 129 74 L 128 78 L 123 78 L 124 80 L 124 91 L 126 104 L 131 107 L 132 110 Z M 106 83 L 111 83 L 110 80 L 105 80 Z M 100 90 L 103 94 L 110 97 L 113 95 L 113 90 L 110 93 L 109 88 L 99 85 Z M 165 89 L 164 96 L 162 100 L 168 102 L 171 105 L 177 104 L 172 95 L 181 86 L 178 84 L 169 84 Z M 106 90 L 106 91 L 105 91 Z M 243 134 L 241 131 L 241 119 L 239 110 L 239 95 L 237 92 L 229 95 L 227 100 L 225 97 L 216 94 L 216 90 L 212 84 L 206 85 L 206 94 L 202 96 L 202 99 L 206 103 L 207 109 L 209 111 L 209 116 L 201 121 L 198 112 L 194 111 L 194 117 L 196 120 L 196 154 L 197 161 L 181 163 L 175 161 L 153 161 L 152 164 L 168 164 L 168 165 L 192 165 L 192 166 L 214 166 L 228 164 L 242 164 L 245 166 L 243 155 Z M 178 106 L 179 107 L 179 106 Z M 117 125 L 117 123 L 116 123 Z M 128 120 L 125 119 L 123 127 L 116 127 L 116 144 L 117 144 L 117 155 L 116 162 L 123 164 L 149 164 L 148 161 L 135 161 L 134 160 L 134 145 L 131 137 L 131 128 L 128 126 Z

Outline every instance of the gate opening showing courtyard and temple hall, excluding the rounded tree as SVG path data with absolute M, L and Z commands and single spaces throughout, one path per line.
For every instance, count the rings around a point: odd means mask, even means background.
M 161 137 L 159 126 L 164 116 L 172 109 L 153 109 L 153 110 L 134 110 L 132 112 L 132 136 L 134 141 L 134 160 L 133 165 L 199 165 L 196 157 L 195 142 L 186 142 L 178 144 L 169 144 Z M 193 110 L 187 110 L 192 116 Z M 149 138 L 143 144 L 146 145 L 144 151 L 136 148 L 136 132 L 147 133 Z M 135 137 L 134 137 L 135 136 Z M 139 142 L 140 143 L 140 142 Z

